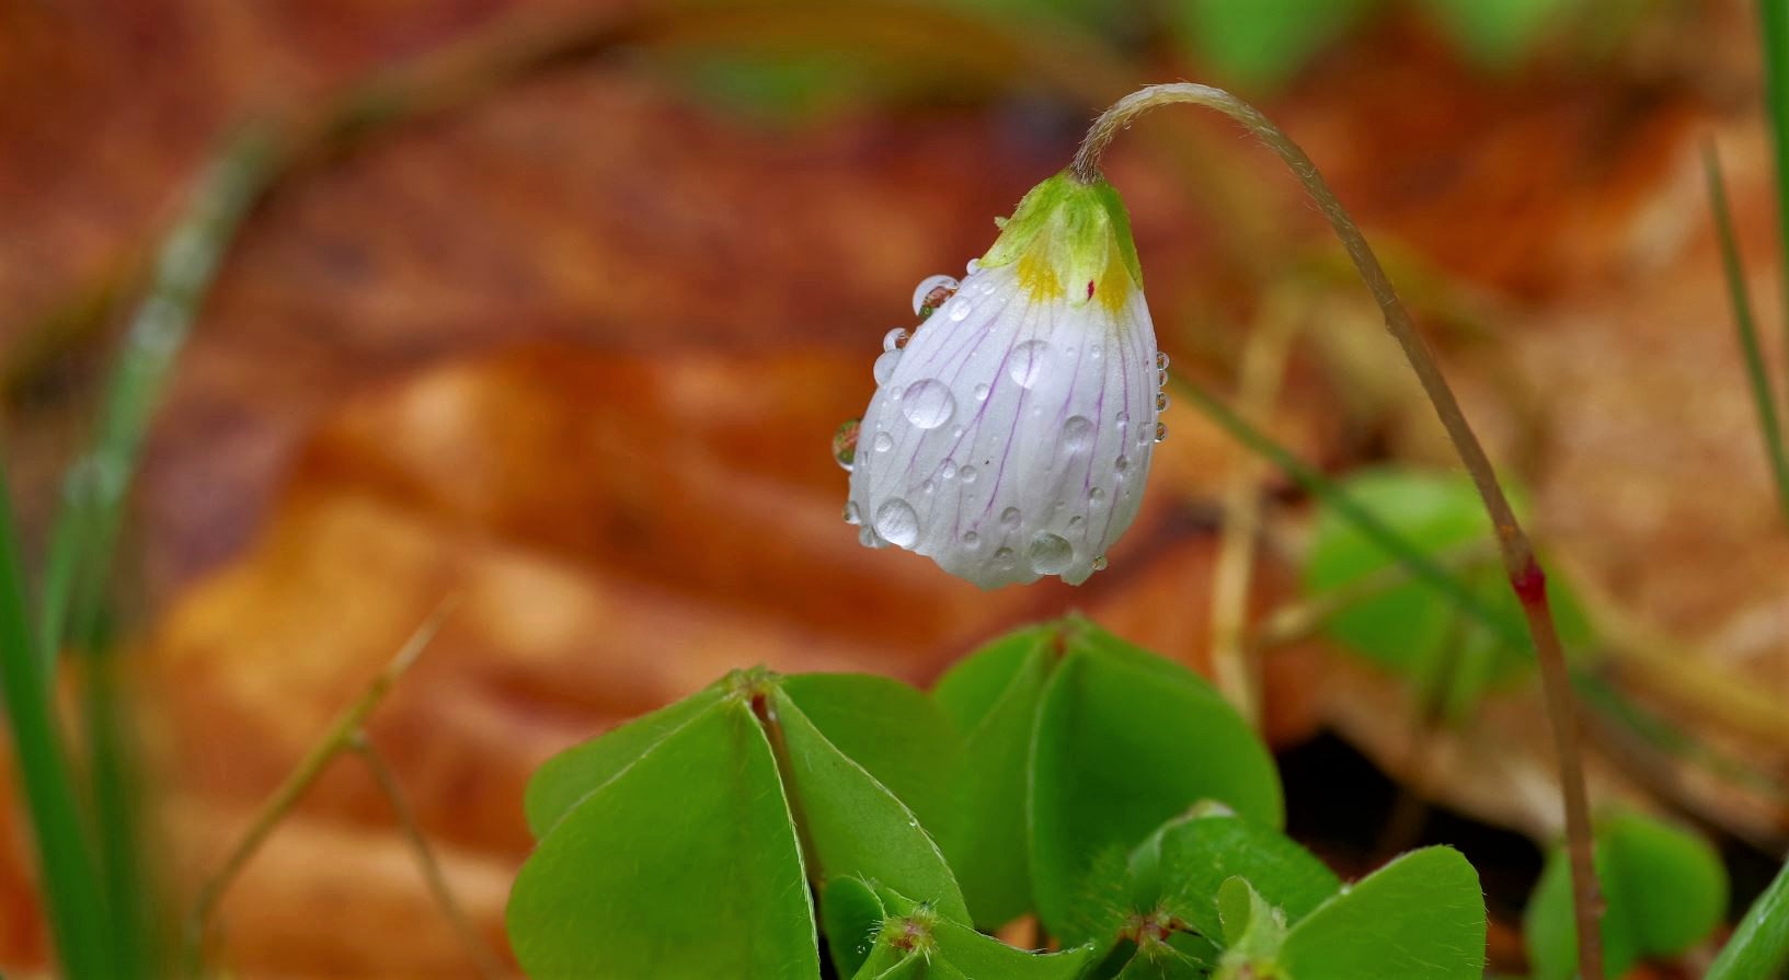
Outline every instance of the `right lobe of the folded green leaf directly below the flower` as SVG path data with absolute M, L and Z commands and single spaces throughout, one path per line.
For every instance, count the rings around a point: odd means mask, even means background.
M 1032 744 L 1032 898 L 1052 935 L 1104 942 L 1136 844 L 1200 799 L 1279 826 L 1279 776 L 1249 724 L 1186 667 L 1084 621 L 1064 624 L 1063 642 Z

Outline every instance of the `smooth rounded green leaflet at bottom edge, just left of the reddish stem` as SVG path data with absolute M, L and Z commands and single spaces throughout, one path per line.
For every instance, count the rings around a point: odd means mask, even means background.
M 1480 980 L 1478 871 L 1453 848 L 1410 851 L 1293 925 L 1279 966 L 1297 980 Z

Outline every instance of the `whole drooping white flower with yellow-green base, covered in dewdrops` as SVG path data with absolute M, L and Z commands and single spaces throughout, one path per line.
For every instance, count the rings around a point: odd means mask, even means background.
M 1079 585 L 1136 519 L 1166 406 L 1131 220 L 1104 181 L 1038 184 L 957 284 L 914 293 L 835 451 L 861 540 L 993 588 Z

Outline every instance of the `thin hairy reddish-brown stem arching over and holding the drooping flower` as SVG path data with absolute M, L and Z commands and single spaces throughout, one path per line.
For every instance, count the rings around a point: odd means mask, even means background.
M 1528 619 L 1528 631 L 1533 637 L 1535 655 L 1540 662 L 1540 687 L 1547 705 L 1547 721 L 1553 728 L 1553 748 L 1558 753 L 1560 767 L 1560 794 L 1565 803 L 1565 841 L 1573 869 L 1580 980 L 1603 980 L 1603 934 L 1598 928 L 1601 900 L 1590 857 L 1590 805 L 1583 785 L 1583 765 L 1578 758 L 1578 726 L 1573 710 L 1571 678 L 1565 669 L 1565 653 L 1560 646 L 1558 629 L 1553 622 L 1553 610 L 1547 604 L 1546 572 L 1542 572 L 1540 563 L 1535 560 L 1535 549 L 1522 526 L 1515 520 L 1515 511 L 1510 508 L 1503 486 L 1497 485 L 1497 474 L 1490 465 L 1490 458 L 1485 456 L 1485 447 L 1472 435 L 1472 427 L 1467 424 L 1465 413 L 1460 411 L 1460 402 L 1454 399 L 1453 388 L 1447 386 L 1435 354 L 1429 351 L 1428 342 L 1422 340 L 1422 334 L 1417 333 L 1410 311 L 1397 299 L 1397 290 L 1392 288 L 1392 281 L 1385 275 L 1378 256 L 1372 254 L 1372 247 L 1367 245 L 1367 238 L 1347 215 L 1347 209 L 1342 207 L 1335 191 L 1329 190 L 1322 173 L 1317 172 L 1317 165 L 1311 163 L 1311 157 L 1292 138 L 1254 106 L 1211 86 L 1188 82 L 1149 86 L 1120 98 L 1095 120 L 1093 129 L 1081 141 L 1081 150 L 1075 152 L 1072 170 L 1079 181 L 1098 181 L 1100 154 L 1120 129 L 1150 109 L 1183 102 L 1217 109 L 1242 123 L 1243 129 L 1279 154 L 1279 159 L 1304 184 L 1311 200 L 1317 202 L 1317 207 L 1329 220 L 1336 238 L 1342 240 L 1342 247 L 1347 249 L 1354 268 L 1367 283 L 1374 300 L 1379 302 L 1386 329 L 1397 340 L 1397 345 L 1403 347 L 1404 358 L 1410 361 L 1412 370 L 1417 372 L 1417 381 L 1422 383 L 1422 392 L 1435 406 L 1435 415 L 1440 417 L 1442 427 L 1447 429 L 1447 438 L 1472 476 L 1480 497 L 1485 501 L 1485 510 L 1490 513 L 1492 528 L 1497 533 L 1497 547 L 1503 554 L 1510 588 L 1515 590 L 1517 599 L 1522 603 L 1522 615 Z

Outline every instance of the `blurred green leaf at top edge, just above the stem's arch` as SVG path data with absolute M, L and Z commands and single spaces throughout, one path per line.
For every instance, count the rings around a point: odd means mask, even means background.
M 1222 79 L 1276 88 L 1361 21 L 1374 0 L 1179 0 L 1174 27 Z

